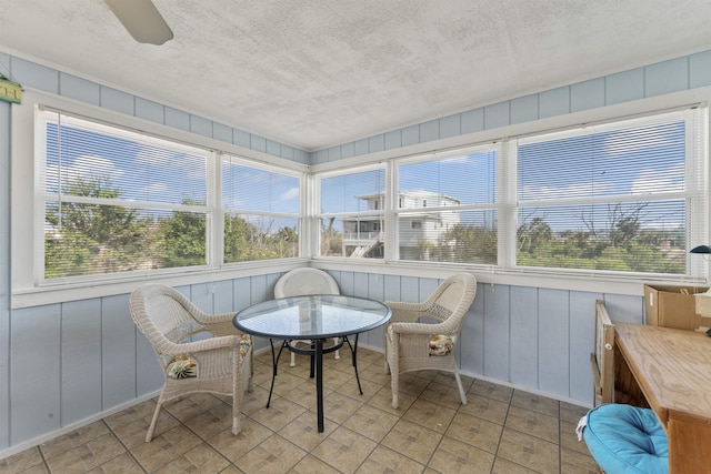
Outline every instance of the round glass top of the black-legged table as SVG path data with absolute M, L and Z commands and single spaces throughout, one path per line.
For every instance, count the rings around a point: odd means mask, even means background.
M 357 334 L 390 320 L 385 304 L 356 296 L 312 295 L 269 300 L 234 316 L 246 333 L 272 339 L 326 339 Z

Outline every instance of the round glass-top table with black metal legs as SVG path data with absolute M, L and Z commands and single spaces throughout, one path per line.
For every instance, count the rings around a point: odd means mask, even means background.
M 311 376 L 316 365 L 318 428 L 323 432 L 323 354 L 333 352 L 347 342 L 351 349 L 353 367 L 358 379 L 356 353 L 358 336 L 385 324 L 391 316 L 390 309 L 374 300 L 343 295 L 310 295 L 269 300 L 249 306 L 234 316 L 234 326 L 248 334 L 268 337 L 272 349 L 273 373 L 269 401 L 274 387 L 277 364 L 281 351 L 287 347 L 292 352 L 311 355 Z M 348 340 L 356 335 L 354 345 Z M 323 342 L 331 337 L 342 337 L 339 345 L 323 347 Z M 282 340 L 279 355 L 274 354 L 273 340 Z M 297 349 L 289 344 L 293 340 L 310 340 L 308 350 Z M 362 394 L 362 390 L 361 390 Z

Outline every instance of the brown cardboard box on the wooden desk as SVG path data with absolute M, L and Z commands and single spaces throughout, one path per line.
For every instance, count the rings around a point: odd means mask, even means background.
M 707 290 L 708 286 L 644 285 L 647 324 L 689 331 L 699 326 L 711 327 L 711 317 L 697 314 L 694 296 Z

